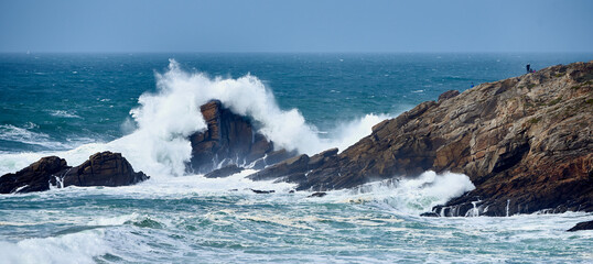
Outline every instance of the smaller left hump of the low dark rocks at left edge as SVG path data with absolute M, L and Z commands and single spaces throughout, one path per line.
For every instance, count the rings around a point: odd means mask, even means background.
M 50 179 L 61 170 L 69 168 L 64 158 L 42 157 L 14 174 L 0 177 L 0 194 L 23 194 L 50 189 Z

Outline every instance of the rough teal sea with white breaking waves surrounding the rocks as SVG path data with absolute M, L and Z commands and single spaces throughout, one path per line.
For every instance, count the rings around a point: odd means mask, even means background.
M 0 54 L 0 175 L 120 152 L 151 178 L 0 195 L 0 263 L 593 263 L 592 213 L 425 218 L 472 190 L 424 172 L 354 189 L 188 174 L 212 99 L 278 147 L 341 151 L 446 90 L 593 54 Z M 416 176 L 416 175 L 414 175 Z M 250 189 L 274 190 L 255 194 Z

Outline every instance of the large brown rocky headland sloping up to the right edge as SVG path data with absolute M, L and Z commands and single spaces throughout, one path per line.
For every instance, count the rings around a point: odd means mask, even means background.
M 476 189 L 434 208 L 439 216 L 593 211 L 593 62 L 455 94 L 375 125 L 298 189 L 450 170 Z

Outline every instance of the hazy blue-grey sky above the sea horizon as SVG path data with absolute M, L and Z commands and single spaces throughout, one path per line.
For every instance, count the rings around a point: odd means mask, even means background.
M 0 52 L 593 52 L 591 0 L 0 0 Z

